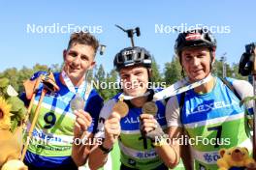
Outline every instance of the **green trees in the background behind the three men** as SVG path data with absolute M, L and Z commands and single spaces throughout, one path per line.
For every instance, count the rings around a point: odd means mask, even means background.
M 23 67 L 20 70 L 16 68 L 10 68 L 5 71 L 0 72 L 0 78 L 7 77 L 11 80 L 12 86 L 16 89 L 18 93 L 23 91 L 23 81 L 30 78 L 36 71 L 61 71 L 62 66 L 55 64 L 51 66 L 36 64 L 32 69 Z M 223 62 L 216 60 L 212 71 L 214 75 L 221 77 L 223 75 Z M 167 86 L 175 83 L 177 80 L 182 78 L 181 67 L 179 65 L 178 59 L 174 56 L 171 62 L 165 64 L 163 71 L 160 70 L 159 65 L 155 62 L 153 57 L 152 63 L 152 82 L 165 82 Z M 247 77 L 241 76 L 239 74 L 239 64 L 229 65 L 226 64 L 226 75 L 228 77 L 238 78 L 247 80 Z M 93 71 L 88 71 L 87 79 L 89 81 L 93 80 L 95 82 L 94 88 L 97 89 L 99 94 L 103 99 L 111 99 L 116 93 L 119 92 L 118 86 L 116 88 L 105 89 L 108 84 L 117 82 L 118 85 L 118 72 L 112 70 L 110 72 L 105 71 L 103 65 L 96 66 Z M 98 82 L 98 84 L 97 84 Z M 104 82 L 104 83 L 102 83 Z M 99 85 L 102 83 L 102 86 Z M 113 86 L 112 86 L 113 87 Z

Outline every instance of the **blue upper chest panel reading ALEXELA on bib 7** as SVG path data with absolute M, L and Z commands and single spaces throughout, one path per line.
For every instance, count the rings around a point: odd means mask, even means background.
M 225 87 L 217 87 L 207 95 L 186 93 L 181 112 L 181 123 L 192 124 L 239 115 L 244 112 L 240 99 Z

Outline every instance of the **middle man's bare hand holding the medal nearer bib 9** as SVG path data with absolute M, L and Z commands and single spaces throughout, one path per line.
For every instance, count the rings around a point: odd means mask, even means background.
M 112 115 L 109 119 L 106 120 L 105 128 L 105 140 L 104 147 L 112 148 L 112 145 L 117 140 L 118 136 L 121 133 L 120 127 L 120 115 L 116 112 L 112 112 Z

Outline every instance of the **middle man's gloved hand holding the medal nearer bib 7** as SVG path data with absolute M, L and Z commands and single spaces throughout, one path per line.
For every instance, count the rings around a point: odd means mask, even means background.
M 141 131 L 145 137 L 155 141 L 156 137 L 161 137 L 165 134 L 153 115 L 142 114 L 140 119 Z

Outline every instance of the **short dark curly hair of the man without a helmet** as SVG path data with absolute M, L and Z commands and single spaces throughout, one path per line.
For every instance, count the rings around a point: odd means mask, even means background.
M 96 53 L 97 52 L 97 49 L 99 47 L 99 42 L 98 40 L 93 36 L 91 35 L 90 33 L 88 32 L 76 32 L 76 33 L 73 33 L 71 36 L 70 36 L 70 41 L 69 41 L 69 44 L 68 44 L 68 49 L 75 43 L 80 43 L 80 44 L 85 44 L 85 45 L 90 45 L 92 46 L 92 48 L 94 49 L 94 52 Z

